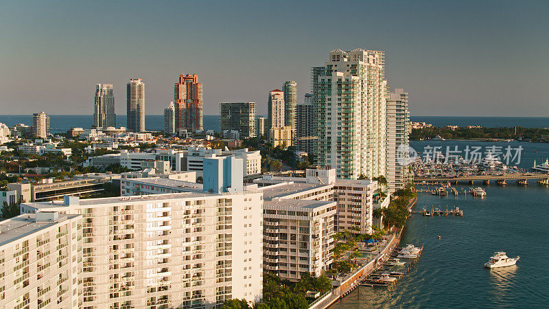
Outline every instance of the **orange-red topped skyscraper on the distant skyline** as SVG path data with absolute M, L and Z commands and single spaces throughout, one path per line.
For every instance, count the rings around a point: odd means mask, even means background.
M 174 84 L 176 132 L 202 130 L 202 83 L 198 74 L 180 74 Z

